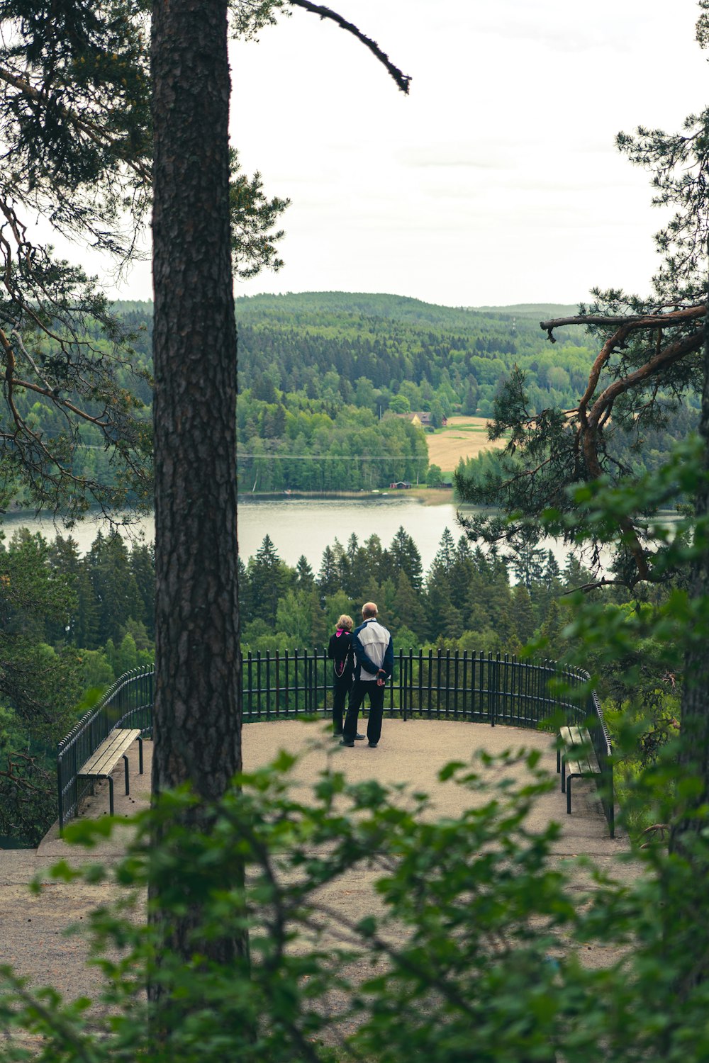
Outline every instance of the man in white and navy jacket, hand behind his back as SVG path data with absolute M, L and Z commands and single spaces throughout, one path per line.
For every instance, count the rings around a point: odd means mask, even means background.
M 374 602 L 366 602 L 361 607 L 364 623 L 355 627 L 352 632 L 355 678 L 340 745 L 355 744 L 357 716 L 366 695 L 369 695 L 367 738 L 372 749 L 376 748 L 382 735 L 384 691 L 394 667 L 394 647 L 391 635 L 383 624 L 379 624 L 376 612 Z

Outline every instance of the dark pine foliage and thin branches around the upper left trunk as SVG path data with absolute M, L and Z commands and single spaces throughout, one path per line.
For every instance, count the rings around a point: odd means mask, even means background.
M 257 20 L 251 3 L 236 7 L 237 23 Z M 150 377 L 135 337 L 35 219 L 119 269 L 138 253 L 152 205 L 149 12 L 131 0 L 10 0 L 0 23 L 0 505 L 19 493 L 72 519 L 96 503 L 147 503 L 152 432 L 139 394 Z M 287 201 L 269 200 L 236 153 L 230 172 L 234 268 L 277 268 Z M 111 474 L 87 449 L 108 455 Z

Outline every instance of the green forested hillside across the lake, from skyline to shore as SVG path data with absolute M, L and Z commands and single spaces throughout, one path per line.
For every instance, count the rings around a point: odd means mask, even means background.
M 120 383 L 144 404 L 149 424 L 152 304 L 118 303 L 116 309 L 133 342 L 132 366 Z M 573 309 L 475 309 L 351 292 L 237 299 L 240 489 L 356 491 L 398 479 L 423 483 L 425 436 L 394 415 L 425 410 L 434 427 L 456 412 L 492 417 L 514 366 L 525 376 L 529 414 L 575 406 L 588 383 L 593 339 L 574 326 L 552 344 L 539 327 L 548 313 Z M 41 400 L 28 393 L 18 404 L 48 437 L 63 431 Z M 628 468 L 656 468 L 695 423 L 694 411 L 673 411 L 670 399 L 666 405 L 669 423 L 649 435 L 618 433 L 618 456 Z M 99 434 L 90 424 L 81 431 L 88 446 L 78 453 L 75 471 L 90 469 L 111 482 L 115 472 Z

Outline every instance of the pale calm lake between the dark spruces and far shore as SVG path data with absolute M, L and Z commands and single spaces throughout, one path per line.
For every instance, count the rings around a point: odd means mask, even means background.
M 388 546 L 402 526 L 416 542 L 424 571 L 436 556 L 444 528 L 451 530 L 456 542 L 462 534 L 456 523 L 456 507 L 451 503 L 426 506 L 418 499 L 395 494 L 364 499 L 239 499 L 239 553 L 244 561 L 254 556 L 268 535 L 287 564 L 294 567 L 305 555 L 317 573 L 323 551 L 332 546 L 336 538 L 344 546 L 353 532 L 360 543 L 376 533 L 382 545 Z M 48 539 L 53 539 L 57 530 L 62 532 L 51 518 L 27 514 L 6 514 L 2 527 L 7 537 L 17 527 L 40 532 Z M 99 527 L 105 532 L 108 525 L 89 518 L 72 529 L 71 535 L 82 554 L 91 545 Z M 155 536 L 153 517 L 137 521 L 131 534 L 142 534 L 152 540 Z M 552 539 L 543 540 L 540 545 L 552 550 L 563 567 L 567 557 L 563 546 Z

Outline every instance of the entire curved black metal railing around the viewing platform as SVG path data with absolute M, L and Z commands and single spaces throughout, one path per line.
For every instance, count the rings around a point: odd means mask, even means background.
M 243 721 L 325 716 L 332 709 L 332 662 L 324 649 L 248 654 L 242 660 Z M 404 720 L 469 720 L 514 727 L 588 727 L 601 769 L 601 795 L 613 834 L 611 746 L 586 672 L 552 660 L 520 661 L 507 654 L 400 651 L 385 697 L 385 714 Z M 152 669 L 129 672 L 60 743 L 60 826 L 75 815 L 85 789 L 75 775 L 112 727 L 152 724 Z M 87 788 L 86 788 L 87 789 Z

